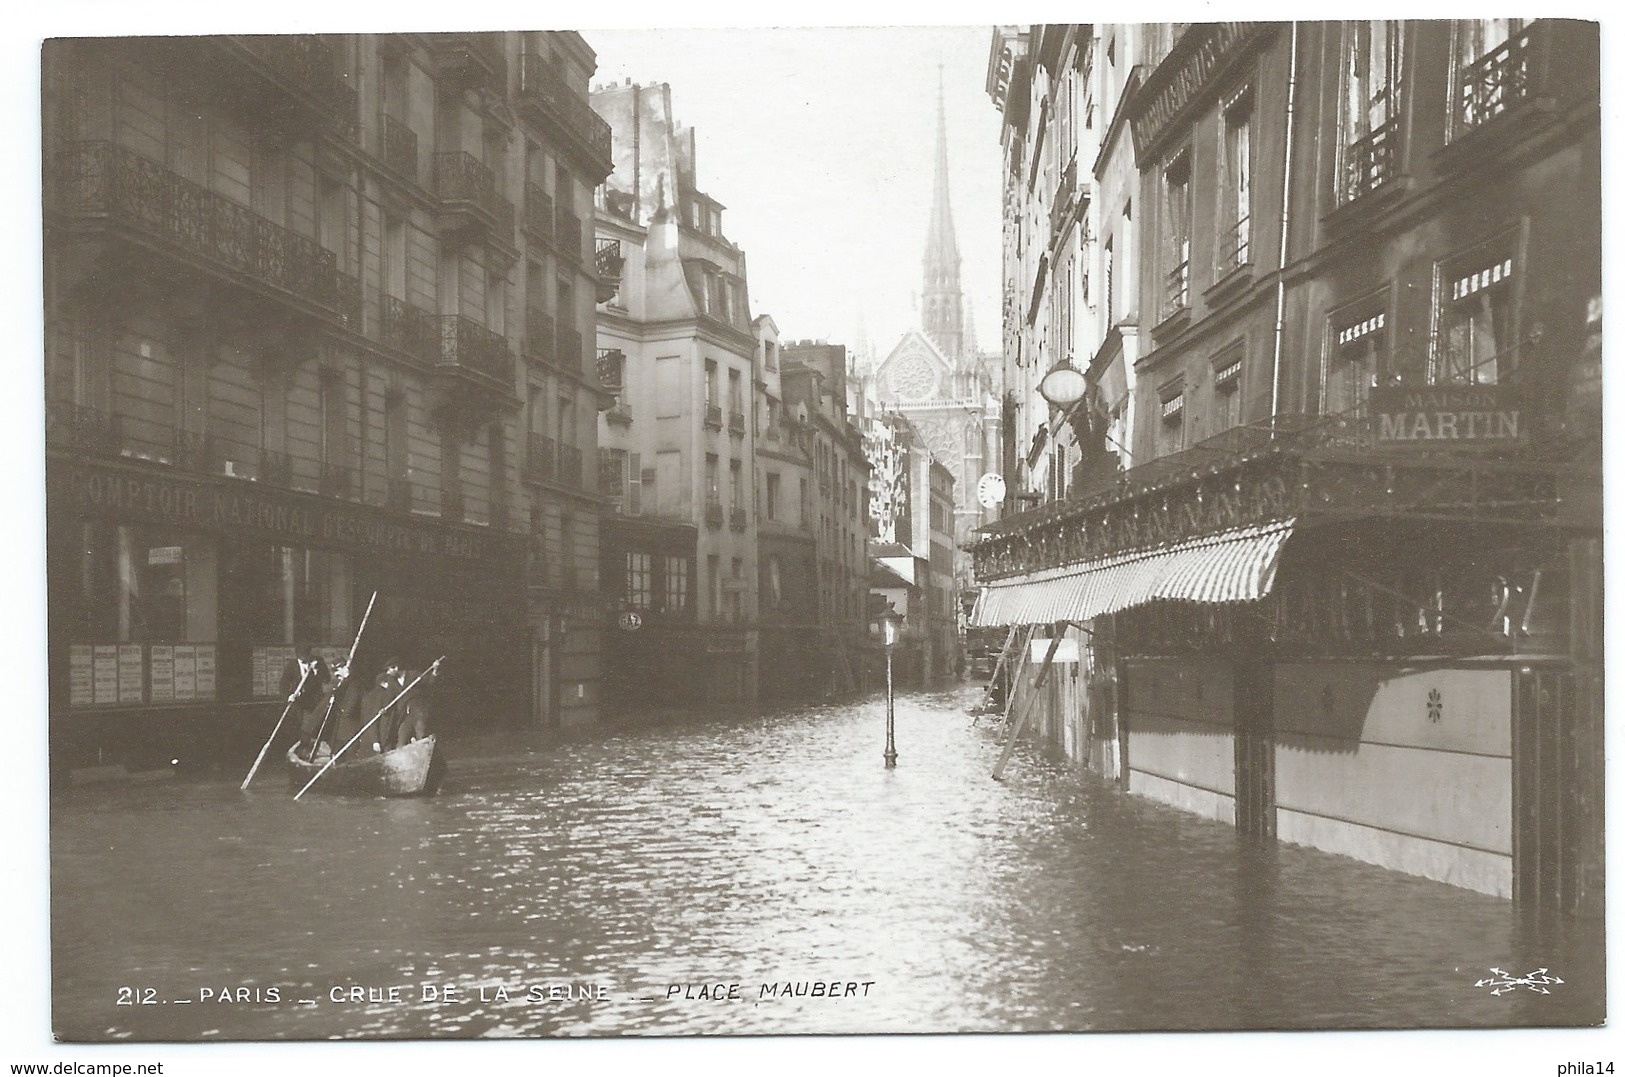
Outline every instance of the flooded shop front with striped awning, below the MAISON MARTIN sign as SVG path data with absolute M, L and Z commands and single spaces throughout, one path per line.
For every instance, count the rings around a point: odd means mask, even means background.
M 1581 908 L 1601 713 L 1576 703 L 1557 473 L 1336 445 L 1165 466 L 993 531 L 973 619 L 1084 629 L 1082 699 L 1110 713 L 1048 726 L 1110 736 L 1081 754 L 1131 793 Z

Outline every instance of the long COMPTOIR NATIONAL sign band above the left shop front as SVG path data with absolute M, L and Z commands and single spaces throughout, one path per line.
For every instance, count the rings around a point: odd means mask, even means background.
M 73 510 L 84 515 L 431 557 L 486 560 L 512 552 L 502 547 L 497 536 L 401 520 L 366 505 L 328 505 L 304 494 L 240 482 L 150 476 L 83 463 L 65 465 L 47 482 L 49 489 L 65 492 Z

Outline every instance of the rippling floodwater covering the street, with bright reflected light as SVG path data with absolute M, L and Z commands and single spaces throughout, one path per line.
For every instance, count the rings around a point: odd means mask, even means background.
M 237 780 L 52 804 L 83 1040 L 1584 1025 L 1601 929 L 1238 843 L 1025 746 L 972 689 L 450 737 L 437 798 Z M 1492 994 L 1549 968 L 1552 994 Z M 832 997 L 834 996 L 834 997 Z M 229 999 L 229 1001 L 223 1001 Z

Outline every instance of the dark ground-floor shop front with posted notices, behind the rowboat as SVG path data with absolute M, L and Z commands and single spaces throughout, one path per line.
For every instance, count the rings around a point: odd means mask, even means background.
M 46 489 L 57 770 L 252 759 L 296 650 L 343 660 L 364 616 L 361 676 L 447 655 L 440 723 L 517 713 L 517 538 L 133 461 L 50 460 Z

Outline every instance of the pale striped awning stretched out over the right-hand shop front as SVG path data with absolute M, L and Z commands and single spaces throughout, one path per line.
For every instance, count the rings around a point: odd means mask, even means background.
M 1046 569 L 982 588 L 970 624 L 1089 621 L 1154 599 L 1250 603 L 1276 585 L 1280 544 L 1294 520 L 1280 520 L 1159 549 Z

